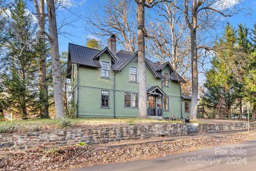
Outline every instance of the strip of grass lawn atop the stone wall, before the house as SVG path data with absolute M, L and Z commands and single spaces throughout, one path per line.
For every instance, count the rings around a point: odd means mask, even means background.
M 71 127 L 90 127 L 102 125 L 134 125 L 143 123 L 182 123 L 181 121 L 170 120 L 155 120 L 155 119 L 140 119 L 140 118 L 74 118 L 68 120 Z M 60 129 L 63 125 L 61 119 L 28 119 L 28 120 L 13 120 L 13 121 L 0 121 L 0 133 L 13 133 L 13 132 L 32 132 L 41 130 Z M 66 123 L 67 124 L 67 120 Z

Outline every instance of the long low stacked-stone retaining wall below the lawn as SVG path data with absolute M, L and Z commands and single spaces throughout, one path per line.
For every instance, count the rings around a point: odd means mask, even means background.
M 256 127 L 256 123 L 251 123 Z M 145 124 L 123 127 L 81 128 L 23 134 L 0 134 L 0 150 L 22 150 L 39 145 L 55 146 L 77 144 L 100 144 L 122 140 L 148 139 L 159 136 L 179 136 L 190 133 L 211 133 L 246 129 L 247 123 L 232 124 Z

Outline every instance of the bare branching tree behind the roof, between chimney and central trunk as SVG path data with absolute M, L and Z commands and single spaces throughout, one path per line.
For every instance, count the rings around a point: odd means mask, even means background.
M 108 0 L 106 4 L 102 4 L 101 16 L 97 11 L 92 11 L 92 16 L 86 17 L 88 25 L 93 26 L 89 31 L 99 37 L 115 34 L 126 51 L 134 52 L 137 46 L 134 7 L 128 0 Z

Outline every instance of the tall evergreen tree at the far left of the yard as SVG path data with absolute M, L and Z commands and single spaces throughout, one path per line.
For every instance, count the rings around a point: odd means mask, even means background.
M 3 79 L 4 108 L 22 118 L 37 112 L 37 65 L 34 42 L 36 26 L 31 14 L 26 11 L 22 0 L 15 0 L 10 7 L 11 16 L 7 25 L 4 49 L 1 59 L 4 63 Z

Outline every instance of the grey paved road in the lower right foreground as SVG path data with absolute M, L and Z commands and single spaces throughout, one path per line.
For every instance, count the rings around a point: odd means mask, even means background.
M 203 160 L 203 162 L 202 162 Z M 74 169 L 72 171 L 192 171 L 256 170 L 256 141 L 214 146 L 193 152 L 173 154 L 150 160 L 121 162 Z M 71 171 L 71 170 L 69 170 Z

